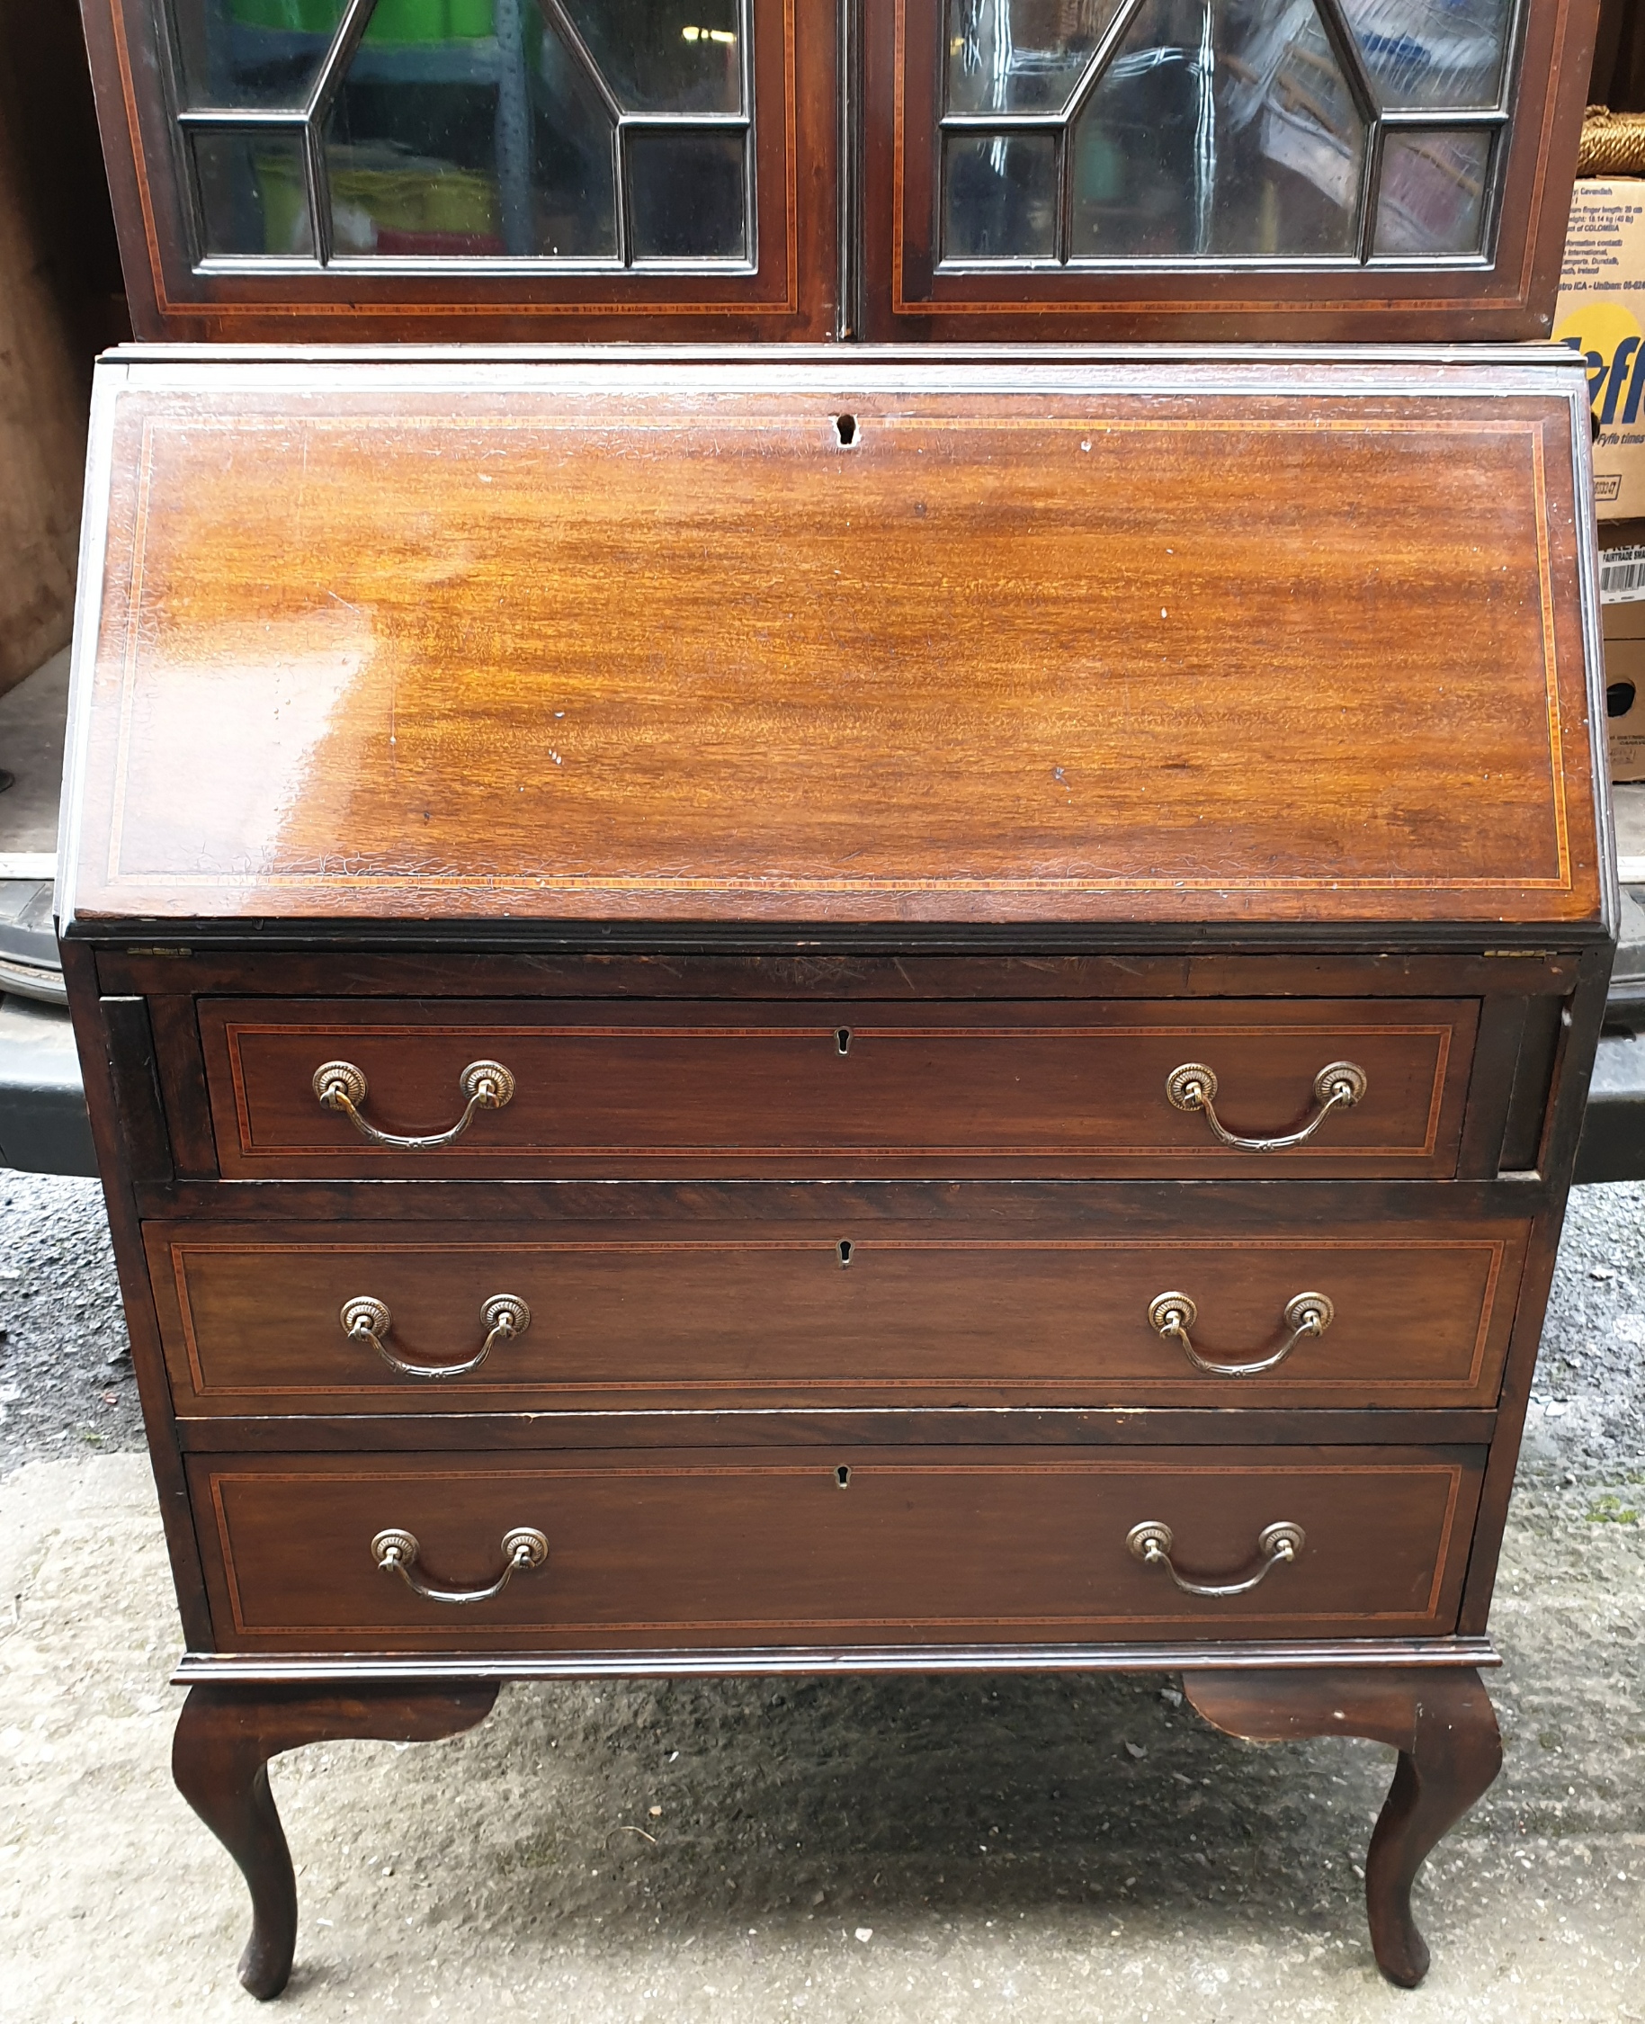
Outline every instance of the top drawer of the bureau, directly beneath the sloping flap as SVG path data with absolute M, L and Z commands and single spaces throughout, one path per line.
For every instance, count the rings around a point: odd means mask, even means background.
M 200 1004 L 229 1178 L 1445 1178 L 1475 1026 L 1477 1000 L 1412 998 Z M 328 1063 L 354 1115 L 322 1103 Z M 465 1093 L 484 1063 L 502 1107 Z M 1364 1077 L 1352 1107 L 1315 1093 L 1333 1063 Z M 1210 1107 L 1172 1101 L 1192 1065 Z

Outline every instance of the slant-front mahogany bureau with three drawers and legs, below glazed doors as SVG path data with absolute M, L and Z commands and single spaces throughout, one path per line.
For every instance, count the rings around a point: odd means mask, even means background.
M 63 961 L 267 1759 L 591 1674 L 1479 1684 L 1611 961 L 1566 354 L 127 350 Z

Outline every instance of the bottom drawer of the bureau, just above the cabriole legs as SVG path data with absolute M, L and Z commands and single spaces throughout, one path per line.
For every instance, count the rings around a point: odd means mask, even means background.
M 672 1449 L 190 1463 L 225 1652 L 1443 1635 L 1481 1449 Z M 1131 1546 L 1170 1528 L 1170 1565 Z M 1259 1544 L 1295 1526 L 1295 1558 Z M 546 1542 L 508 1565 L 504 1538 Z M 528 1542 L 530 1544 L 530 1542 Z M 1263 1581 L 1188 1595 L 1174 1581 Z

